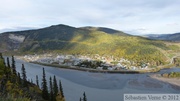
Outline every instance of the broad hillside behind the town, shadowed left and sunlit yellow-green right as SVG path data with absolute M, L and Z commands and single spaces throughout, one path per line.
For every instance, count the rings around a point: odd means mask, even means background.
M 67 25 L 2 33 L 0 47 L 0 51 L 21 53 L 99 54 L 154 65 L 164 64 L 180 50 L 177 43 L 149 40 L 114 29 Z

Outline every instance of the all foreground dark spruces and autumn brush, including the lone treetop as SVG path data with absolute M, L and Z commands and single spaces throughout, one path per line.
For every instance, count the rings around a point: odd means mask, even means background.
M 46 73 L 43 68 L 42 83 L 39 85 L 38 75 L 36 83 L 33 80 L 27 80 L 24 64 L 21 67 L 21 73 L 16 71 L 14 56 L 6 58 L 6 62 L 0 53 L 0 101 L 65 101 L 62 83 L 57 82 L 56 76 L 49 78 L 49 87 L 47 86 Z M 85 92 L 80 101 L 87 101 Z

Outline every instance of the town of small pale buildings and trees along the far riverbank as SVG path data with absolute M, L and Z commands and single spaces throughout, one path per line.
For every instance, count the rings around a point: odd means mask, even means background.
M 60 66 L 69 66 L 74 68 L 89 68 L 95 70 L 149 70 L 148 63 L 137 66 L 132 61 L 121 58 L 117 59 L 113 56 L 96 55 L 63 55 L 63 54 L 41 54 L 41 55 L 25 55 L 21 59 L 27 62 L 36 62 L 41 64 L 57 64 Z

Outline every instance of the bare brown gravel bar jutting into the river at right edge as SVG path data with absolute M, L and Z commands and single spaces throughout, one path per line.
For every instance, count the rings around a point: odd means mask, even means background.
M 165 78 L 161 74 L 150 75 L 150 77 L 180 87 L 180 78 Z

